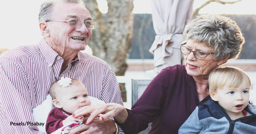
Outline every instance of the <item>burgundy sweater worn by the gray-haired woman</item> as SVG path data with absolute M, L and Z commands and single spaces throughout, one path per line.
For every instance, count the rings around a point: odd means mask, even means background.
M 150 82 L 132 110 L 127 109 L 127 121 L 119 125 L 125 134 L 137 134 L 149 122 L 149 134 L 178 134 L 195 107 L 209 98 L 199 102 L 195 80 L 184 65 L 167 67 Z

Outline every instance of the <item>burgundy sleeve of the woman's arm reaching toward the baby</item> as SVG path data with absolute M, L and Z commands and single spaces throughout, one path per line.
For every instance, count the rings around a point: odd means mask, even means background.
M 127 110 L 128 118 L 125 123 L 120 124 L 124 133 L 138 134 L 147 128 L 148 123 L 158 119 L 169 81 L 169 71 L 163 70 L 149 83 L 132 110 Z

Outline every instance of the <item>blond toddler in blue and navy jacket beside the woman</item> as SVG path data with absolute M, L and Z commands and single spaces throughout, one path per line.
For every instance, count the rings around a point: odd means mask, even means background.
M 195 108 L 179 134 L 254 134 L 256 106 L 249 104 L 249 76 L 241 69 L 223 67 L 209 75 L 211 99 Z

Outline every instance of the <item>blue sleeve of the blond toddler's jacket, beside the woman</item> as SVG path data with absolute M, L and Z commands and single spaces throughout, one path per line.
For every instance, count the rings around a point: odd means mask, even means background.
M 199 122 L 198 107 L 192 112 L 188 119 L 179 129 L 179 134 L 198 134 L 203 129 Z

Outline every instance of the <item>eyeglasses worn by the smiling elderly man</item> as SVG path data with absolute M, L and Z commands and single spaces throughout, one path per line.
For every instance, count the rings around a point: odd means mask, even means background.
M 46 22 L 65 22 L 65 23 L 68 23 L 68 24 L 71 24 L 75 27 L 79 27 L 82 25 L 82 23 L 85 24 L 85 26 L 89 29 L 95 29 L 96 26 L 97 26 L 97 23 L 93 20 L 86 20 L 86 21 L 81 21 L 80 19 L 68 19 L 68 20 L 49 20 L 49 21 L 46 21 Z

